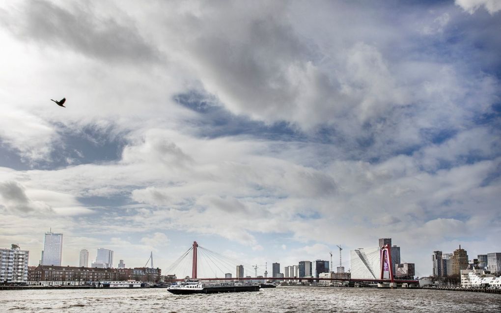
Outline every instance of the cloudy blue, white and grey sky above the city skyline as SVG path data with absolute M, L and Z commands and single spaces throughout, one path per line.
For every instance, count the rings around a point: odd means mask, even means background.
M 496 0 L 4 1 L 0 246 L 499 252 L 500 33 Z

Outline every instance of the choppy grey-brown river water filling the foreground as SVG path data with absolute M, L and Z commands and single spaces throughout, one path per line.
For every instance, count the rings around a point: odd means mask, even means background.
M 501 295 L 426 289 L 278 287 L 174 295 L 163 288 L 4 290 L 0 312 L 501 312 Z

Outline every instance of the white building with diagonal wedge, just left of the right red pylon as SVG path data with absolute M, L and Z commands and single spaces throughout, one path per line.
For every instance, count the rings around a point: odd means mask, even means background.
M 358 248 L 350 251 L 351 278 L 379 279 L 381 271 L 378 247 Z

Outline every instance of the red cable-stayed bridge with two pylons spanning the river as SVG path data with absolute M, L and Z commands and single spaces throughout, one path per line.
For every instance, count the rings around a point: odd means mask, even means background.
M 419 284 L 418 280 L 415 279 L 395 279 L 393 273 L 393 266 L 391 265 L 391 247 L 385 245 L 380 248 L 380 272 L 374 275 L 374 279 L 369 278 L 326 278 L 326 277 L 268 277 L 267 269 L 263 272 L 262 269 L 259 270 L 259 266 L 245 263 L 239 261 L 235 258 L 225 256 L 219 252 L 215 252 L 206 249 L 196 241 L 193 241 L 193 245 L 189 247 L 179 258 L 177 258 L 170 267 L 168 267 L 166 273 L 173 273 L 176 269 L 180 269 L 184 266 L 184 272 L 186 272 L 186 266 L 189 259 L 191 259 L 191 278 L 200 280 L 275 280 L 275 281 L 347 281 L 347 282 L 367 282 L 367 283 L 378 283 L 385 284 L 386 286 L 396 287 L 397 283 L 407 283 L 407 284 Z M 210 273 L 204 273 L 199 275 L 199 262 L 204 262 L 204 265 L 209 268 Z M 184 265 L 183 265 L 184 264 Z M 263 265 L 261 265 L 263 266 Z M 205 266 L 204 266 L 205 267 Z M 240 267 L 240 273 L 237 267 Z M 228 270 L 230 268 L 230 270 Z M 220 273 L 231 273 L 233 269 L 236 269 L 236 277 L 217 277 L 217 272 Z M 243 272 L 246 271 L 247 275 L 244 276 Z M 249 276 L 248 273 L 254 273 L 254 276 Z M 261 275 L 258 275 L 261 274 Z M 200 277 L 203 276 L 203 277 Z M 214 276 L 214 277 L 212 277 Z M 232 275 L 231 275 L 232 276 Z M 183 278 L 176 279 L 177 281 L 183 280 Z

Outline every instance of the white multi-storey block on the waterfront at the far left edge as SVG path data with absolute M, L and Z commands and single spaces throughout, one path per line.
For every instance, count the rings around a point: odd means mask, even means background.
M 21 250 L 19 245 L 0 249 L 0 283 L 28 281 L 28 259 L 30 251 Z

